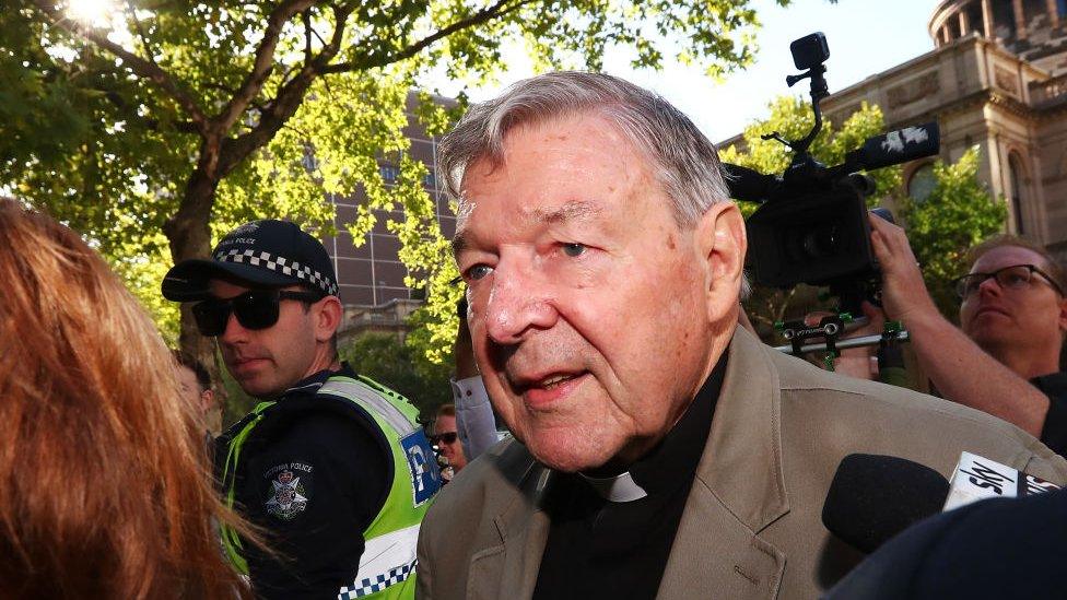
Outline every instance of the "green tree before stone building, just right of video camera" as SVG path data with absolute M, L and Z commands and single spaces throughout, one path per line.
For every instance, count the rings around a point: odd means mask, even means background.
M 959 319 L 960 301 L 951 282 L 966 268 L 966 252 L 1004 230 L 1008 207 L 977 177 L 981 150 L 973 146 L 954 164 L 934 164 L 934 189 L 923 200 L 904 198 L 901 217 L 923 268 L 926 289 L 941 313 Z

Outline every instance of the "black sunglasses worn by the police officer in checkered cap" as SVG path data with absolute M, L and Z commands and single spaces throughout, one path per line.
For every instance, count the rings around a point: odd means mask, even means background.
M 267 329 L 278 322 L 281 301 L 296 299 L 307 303 L 323 299 L 317 292 L 292 292 L 288 290 L 250 290 L 232 298 L 208 298 L 192 305 L 192 317 L 200 333 L 208 337 L 221 336 L 230 322 L 230 314 L 245 329 Z

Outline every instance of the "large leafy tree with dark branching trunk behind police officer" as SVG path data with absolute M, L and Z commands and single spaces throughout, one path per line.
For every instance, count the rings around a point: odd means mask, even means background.
M 719 74 L 751 60 L 757 25 L 748 0 L 128 0 L 92 21 L 71 17 L 78 2 L 12 0 L 0 13 L 0 81 L 17 83 L 0 108 L 17 117 L 15 134 L 0 136 L 0 187 L 91 238 L 161 320 L 174 310 L 156 298 L 169 263 L 207 256 L 254 217 L 330 232 L 325 195 L 360 190 L 367 202 L 345 224 L 355 239 L 377 211 L 406 209 L 389 226 L 410 284 L 427 287 L 438 346 L 455 328 L 444 307 L 456 292 L 424 167 L 406 152 L 408 91 L 433 70 L 484 82 L 511 42 L 542 66 L 597 69 L 623 47 L 656 68 L 675 37 L 681 59 Z M 439 132 L 447 115 L 421 98 Z M 12 115 L 19 106 L 35 108 Z M 49 136 L 30 139 L 40 125 Z M 378 173 L 384 157 L 400 167 L 395 186 Z M 178 337 L 210 355 L 187 308 Z

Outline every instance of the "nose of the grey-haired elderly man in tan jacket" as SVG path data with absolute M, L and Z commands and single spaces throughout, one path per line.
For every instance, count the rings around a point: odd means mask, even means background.
M 485 304 L 485 331 L 499 344 L 515 344 L 558 318 L 548 282 L 535 268 L 497 266 Z

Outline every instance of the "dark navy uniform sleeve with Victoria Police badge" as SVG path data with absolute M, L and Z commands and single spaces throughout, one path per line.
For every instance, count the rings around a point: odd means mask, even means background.
M 338 374 L 355 377 L 348 365 Z M 315 398 L 331 375 L 317 373 L 282 395 L 242 448 L 238 510 L 279 553 L 245 544 L 261 598 L 336 598 L 354 579 L 363 531 L 389 492 L 391 455 L 378 427 Z

